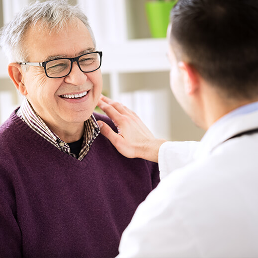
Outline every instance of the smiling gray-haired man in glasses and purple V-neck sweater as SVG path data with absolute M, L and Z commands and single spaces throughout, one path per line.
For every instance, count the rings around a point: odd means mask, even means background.
M 102 52 L 67 1 L 36 2 L 1 33 L 22 105 L 0 127 L 0 257 L 114 257 L 156 163 L 127 159 L 92 114 Z

